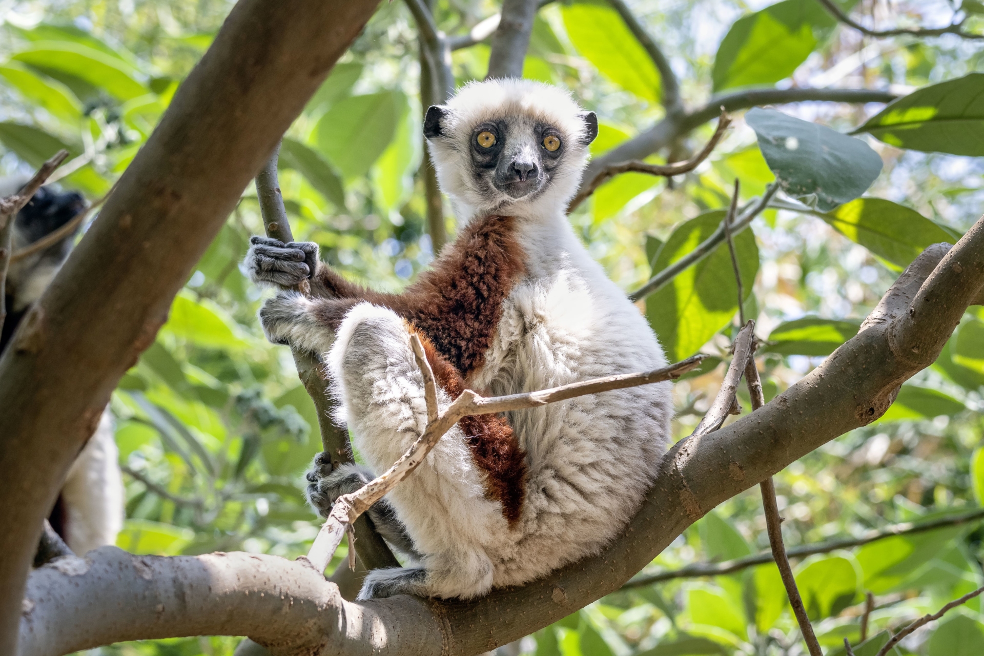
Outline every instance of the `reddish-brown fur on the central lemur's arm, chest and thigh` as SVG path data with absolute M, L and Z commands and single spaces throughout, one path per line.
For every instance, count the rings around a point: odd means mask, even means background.
M 502 303 L 524 270 L 524 254 L 511 216 L 473 222 L 445 249 L 434 268 L 400 295 L 381 294 L 348 282 L 329 267 L 315 273 L 315 313 L 338 329 L 345 313 L 362 301 L 390 308 L 417 332 L 438 384 L 451 396 L 485 363 L 502 316 Z M 459 422 L 475 464 L 485 474 L 485 492 L 502 504 L 512 526 L 523 509 L 525 453 L 505 417 L 475 415 Z

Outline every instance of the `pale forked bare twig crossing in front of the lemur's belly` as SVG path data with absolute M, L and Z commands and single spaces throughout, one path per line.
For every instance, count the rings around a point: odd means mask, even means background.
M 444 412 L 438 413 L 435 421 L 428 421 L 427 427 L 420 437 L 406 449 L 406 452 L 400 456 L 400 459 L 385 473 L 366 483 L 355 492 L 338 497 L 335 506 L 332 507 L 332 512 L 321 527 L 321 531 L 315 538 L 314 544 L 311 545 L 311 550 L 307 555 L 308 561 L 319 571 L 323 571 L 325 567 L 328 567 L 332 556 L 334 556 L 338 545 L 341 543 L 341 538 L 345 534 L 347 527 L 359 515 L 382 499 L 400 481 L 416 469 L 423 462 L 430 450 L 437 446 L 437 443 L 444 434 L 451 430 L 462 417 L 537 407 L 546 403 L 561 401 L 574 396 L 583 396 L 584 394 L 593 394 L 599 391 L 670 381 L 698 367 L 703 358 L 704 356 L 700 355 L 694 356 L 651 372 L 607 376 L 591 381 L 584 381 L 583 383 L 574 383 L 559 388 L 541 389 L 525 394 L 510 394 L 508 396 L 486 398 L 479 396 L 471 389 L 465 389 Z M 417 364 L 421 367 L 421 373 L 425 381 L 428 377 L 433 378 L 432 372 L 428 374 L 430 365 L 427 363 L 426 358 L 417 358 Z

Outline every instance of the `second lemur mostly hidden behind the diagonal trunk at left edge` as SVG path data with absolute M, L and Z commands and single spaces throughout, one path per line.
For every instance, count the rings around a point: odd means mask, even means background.
M 15 193 L 26 179 L 0 181 L 0 196 Z M 41 187 L 14 221 L 14 252 L 54 232 L 78 212 L 85 200 L 77 193 L 59 194 Z M 11 264 L 4 289 L 7 319 L 0 333 L 0 353 L 21 320 L 40 298 L 72 248 L 74 235 Z M 16 347 L 16 343 L 15 343 Z M 123 527 L 123 480 L 108 410 L 69 469 L 50 516 L 52 527 L 76 554 L 115 544 Z

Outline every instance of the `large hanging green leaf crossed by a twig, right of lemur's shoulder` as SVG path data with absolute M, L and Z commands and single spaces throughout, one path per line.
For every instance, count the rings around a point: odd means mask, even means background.
M 678 226 L 659 251 L 653 272 L 694 250 L 717 229 L 724 210 L 708 211 Z M 734 238 L 746 298 L 759 271 L 759 248 L 751 229 Z M 738 285 L 727 244 L 719 244 L 701 262 L 687 268 L 646 299 L 646 317 L 670 360 L 697 352 L 728 325 L 738 311 Z

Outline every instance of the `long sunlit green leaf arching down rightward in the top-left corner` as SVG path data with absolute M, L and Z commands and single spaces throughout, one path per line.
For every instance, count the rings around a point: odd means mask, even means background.
M 120 100 L 150 92 L 137 80 L 137 71 L 123 60 L 79 43 L 39 41 L 11 58 L 42 71 L 74 76 Z

